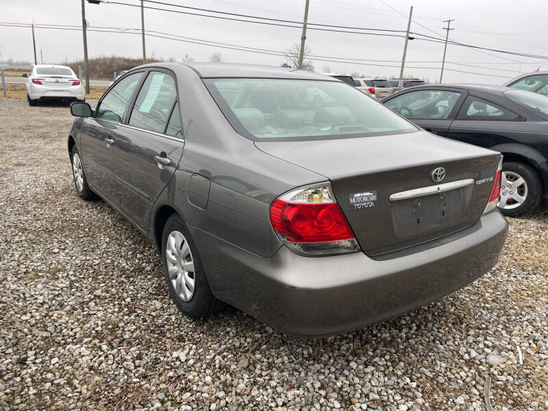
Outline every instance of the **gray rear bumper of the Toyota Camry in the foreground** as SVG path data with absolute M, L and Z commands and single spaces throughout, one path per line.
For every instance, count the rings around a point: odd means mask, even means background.
M 473 227 L 373 260 L 324 258 L 282 247 L 261 258 L 191 228 L 214 295 L 280 331 L 313 338 L 346 332 L 440 299 L 489 271 L 508 223 L 497 211 Z

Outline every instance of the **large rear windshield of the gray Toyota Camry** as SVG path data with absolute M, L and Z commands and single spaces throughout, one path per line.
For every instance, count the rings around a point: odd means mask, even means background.
M 206 79 L 234 129 L 250 140 L 334 139 L 416 131 L 360 90 L 297 79 Z

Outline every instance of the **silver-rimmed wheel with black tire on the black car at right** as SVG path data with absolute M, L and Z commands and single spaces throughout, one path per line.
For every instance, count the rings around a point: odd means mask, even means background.
M 534 210 L 543 198 L 543 182 L 531 166 L 520 162 L 502 164 L 499 208 L 505 216 L 521 216 Z

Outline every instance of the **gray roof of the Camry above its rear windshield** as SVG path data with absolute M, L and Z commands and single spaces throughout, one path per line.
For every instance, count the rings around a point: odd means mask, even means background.
M 155 64 L 162 66 L 162 64 Z M 239 63 L 184 63 L 202 78 L 279 78 L 279 79 L 320 79 L 336 81 L 331 77 L 304 71 L 277 66 L 263 66 L 260 64 Z

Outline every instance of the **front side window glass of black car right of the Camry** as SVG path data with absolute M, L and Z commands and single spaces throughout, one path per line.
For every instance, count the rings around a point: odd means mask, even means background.
M 417 90 L 386 101 L 386 106 L 408 119 L 449 119 L 460 92 Z

